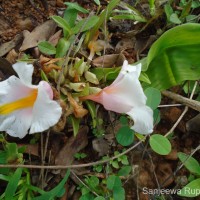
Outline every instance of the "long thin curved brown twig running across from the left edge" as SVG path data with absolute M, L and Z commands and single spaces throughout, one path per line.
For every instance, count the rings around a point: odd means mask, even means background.
M 135 149 L 137 146 L 139 146 L 142 143 L 142 141 L 137 142 L 135 145 L 133 145 L 132 147 L 130 147 L 129 149 L 127 149 L 126 151 L 113 156 L 109 159 L 106 160 L 99 160 L 96 162 L 91 162 L 91 163 L 85 163 L 85 164 L 79 164 L 79 165 L 49 165 L 49 166 L 41 166 L 41 165 L 23 165 L 23 164 L 19 164 L 19 165 L 10 165 L 10 164 L 6 164 L 6 165 L 0 165 L 0 168 L 27 168 L 27 169 L 72 169 L 72 168 L 83 168 L 83 167 L 91 167 L 91 166 L 95 166 L 95 165 L 100 165 L 100 164 L 104 164 L 104 163 L 108 163 L 112 160 L 115 160 L 127 153 L 129 153 L 130 151 L 132 151 L 133 149 Z

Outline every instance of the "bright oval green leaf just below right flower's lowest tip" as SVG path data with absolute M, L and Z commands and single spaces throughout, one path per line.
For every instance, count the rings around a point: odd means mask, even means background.
M 154 134 L 150 137 L 149 144 L 151 148 L 160 155 L 167 155 L 171 151 L 170 141 L 159 134 Z

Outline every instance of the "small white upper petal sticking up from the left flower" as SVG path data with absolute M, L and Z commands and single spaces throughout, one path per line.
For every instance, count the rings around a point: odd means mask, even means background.
M 33 65 L 25 62 L 18 62 L 13 65 L 20 80 L 26 85 L 32 85 Z

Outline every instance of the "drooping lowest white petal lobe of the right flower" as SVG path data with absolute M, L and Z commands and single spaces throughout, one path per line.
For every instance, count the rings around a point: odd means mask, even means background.
M 131 129 L 141 134 L 150 134 L 153 132 L 153 111 L 150 107 L 135 107 L 126 114 L 134 121 Z

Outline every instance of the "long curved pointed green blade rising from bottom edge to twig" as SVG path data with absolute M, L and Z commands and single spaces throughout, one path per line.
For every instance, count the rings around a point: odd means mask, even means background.
M 67 179 L 69 178 L 69 175 L 70 175 L 70 171 L 67 170 L 65 177 L 54 189 L 52 189 L 48 192 L 45 192 L 41 196 L 33 198 L 33 200 L 45 200 L 45 199 L 50 200 L 50 199 L 54 199 L 55 197 L 57 197 L 57 195 L 59 195 L 60 192 L 63 190 L 64 185 L 65 185 Z

